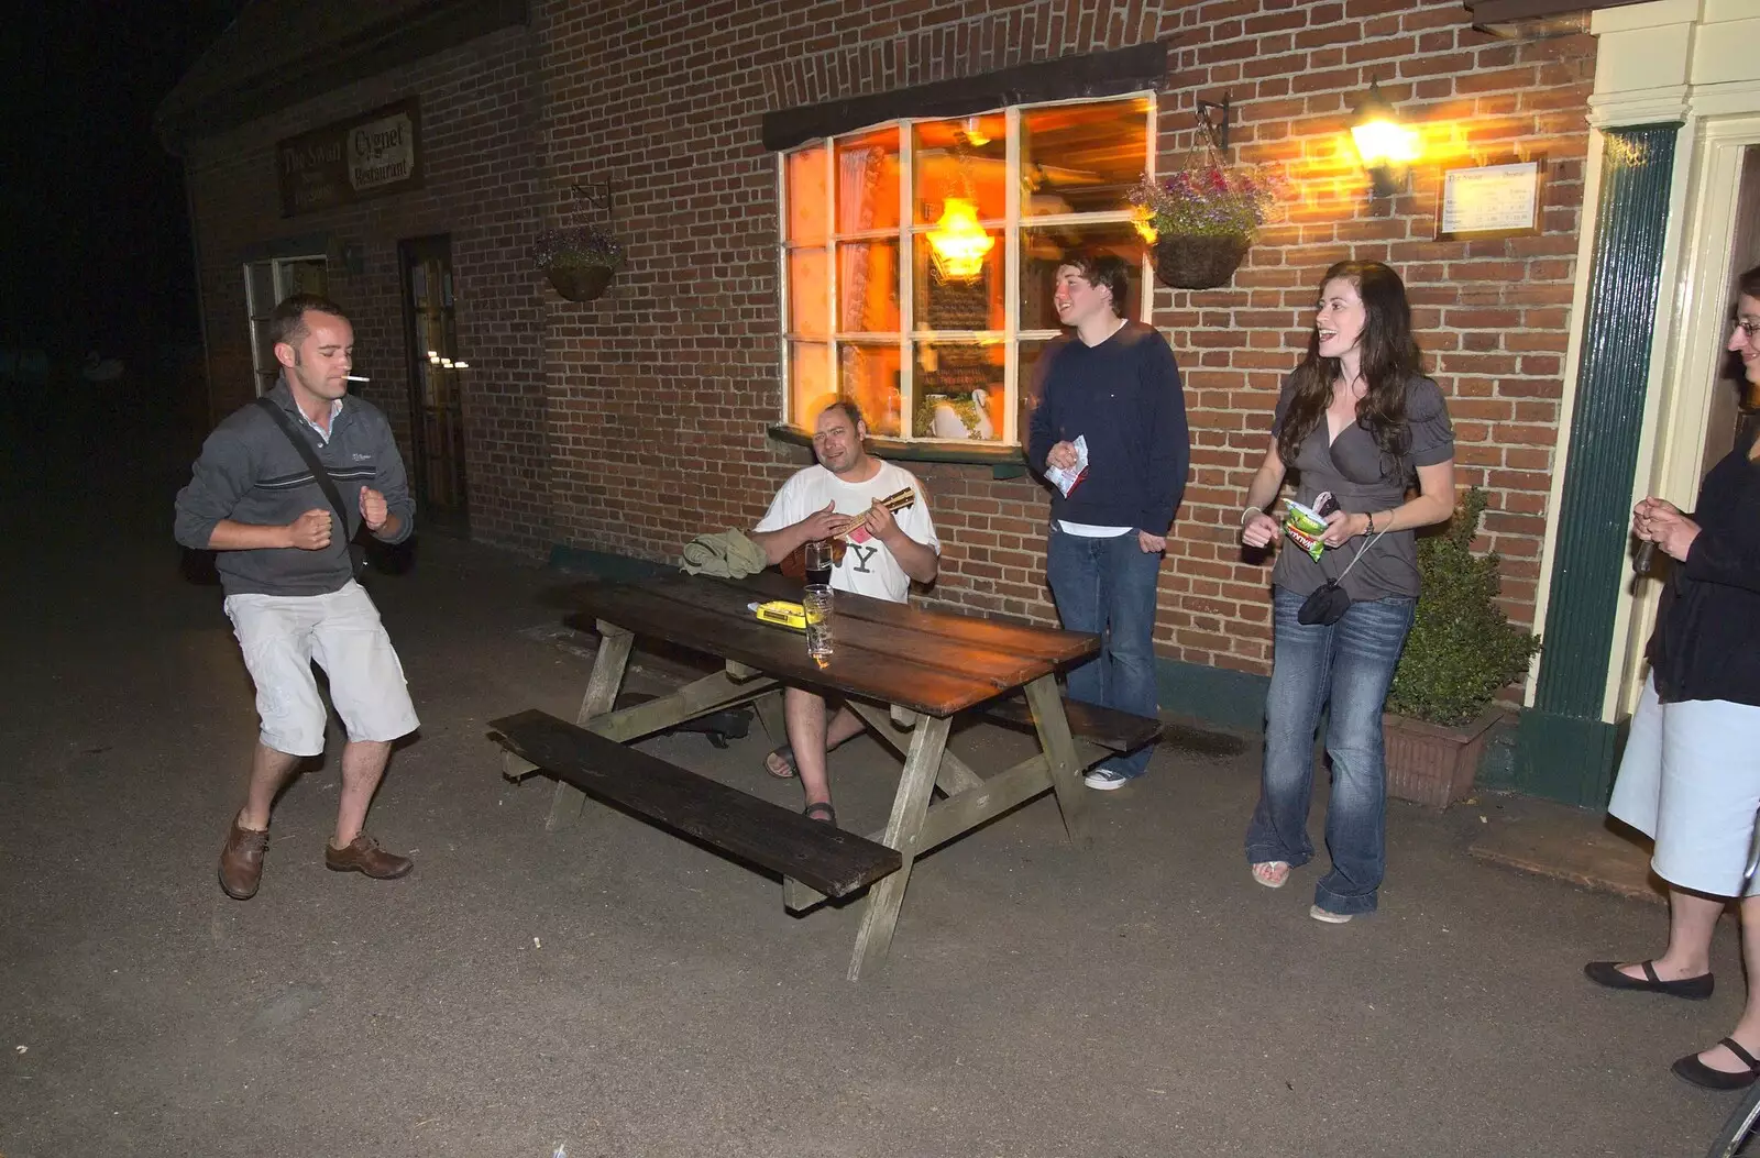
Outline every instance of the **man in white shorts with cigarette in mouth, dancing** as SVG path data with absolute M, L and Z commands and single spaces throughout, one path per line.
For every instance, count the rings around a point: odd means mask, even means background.
M 262 878 L 275 795 L 303 759 L 324 753 L 313 662 L 348 732 L 324 864 L 380 880 L 412 868 L 361 829 L 391 741 L 414 732 L 417 720 L 378 609 L 354 579 L 348 546 L 361 526 L 382 542 L 403 542 L 415 503 L 385 415 L 348 398 L 354 327 L 341 308 L 294 294 L 269 315 L 269 331 L 282 364 L 264 396 L 273 410 L 259 399 L 220 422 L 176 505 L 178 542 L 218 553 L 225 614 L 257 685 L 250 783 L 220 852 L 220 887 L 239 901 Z M 322 465 L 343 510 L 294 438 Z

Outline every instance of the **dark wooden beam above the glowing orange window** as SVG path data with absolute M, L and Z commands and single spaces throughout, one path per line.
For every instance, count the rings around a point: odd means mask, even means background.
M 764 148 L 790 150 L 885 121 L 970 116 L 1010 104 L 1077 100 L 1156 90 L 1167 79 L 1167 44 L 1151 40 L 1109 53 L 1060 56 L 982 76 L 915 84 L 889 93 L 827 100 L 764 114 Z

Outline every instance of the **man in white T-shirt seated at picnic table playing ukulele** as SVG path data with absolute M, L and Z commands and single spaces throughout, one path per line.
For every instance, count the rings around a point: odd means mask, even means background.
M 912 579 L 935 581 L 942 540 L 935 537 L 917 479 L 908 470 L 871 458 L 862 447 L 864 438 L 868 424 L 854 403 L 834 401 L 820 410 L 813 428 L 818 465 L 796 473 L 776 491 L 752 539 L 774 565 L 806 542 L 834 539 L 848 530 L 848 549 L 831 572 L 831 586 L 903 604 Z M 917 502 L 894 516 L 880 500 L 906 486 L 917 493 Z M 799 774 L 806 794 L 804 813 L 836 824 L 825 751 L 861 732 L 862 722 L 843 706 L 827 727 L 825 697 L 806 688 L 783 692 L 783 713 L 788 743 L 769 753 L 764 767 L 771 776 Z

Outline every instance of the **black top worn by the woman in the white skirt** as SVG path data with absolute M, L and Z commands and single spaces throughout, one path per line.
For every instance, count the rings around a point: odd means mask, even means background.
M 1698 535 L 1663 590 L 1649 641 L 1665 704 L 1727 700 L 1760 706 L 1760 466 L 1748 459 L 1755 428 L 1698 487 Z

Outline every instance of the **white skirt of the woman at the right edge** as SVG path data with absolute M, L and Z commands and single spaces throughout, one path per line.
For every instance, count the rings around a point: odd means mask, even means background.
M 1760 707 L 1663 704 L 1646 679 L 1607 811 L 1656 839 L 1651 868 L 1670 885 L 1760 894 L 1760 873 L 1742 880 L 1760 813 Z

